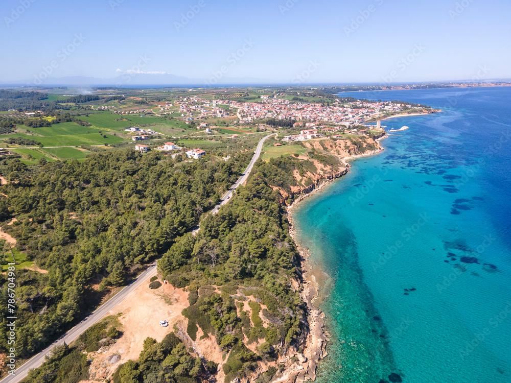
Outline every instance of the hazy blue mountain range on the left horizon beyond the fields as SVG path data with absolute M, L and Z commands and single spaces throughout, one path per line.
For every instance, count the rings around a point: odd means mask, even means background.
M 221 77 L 212 75 L 209 79 L 190 79 L 187 77 L 171 74 L 122 74 L 117 77 L 101 79 L 96 77 L 69 76 L 49 77 L 44 80 L 20 80 L 3 82 L 0 85 L 24 85 L 24 86 L 112 86 L 130 88 L 134 86 L 200 86 L 216 87 L 225 85 L 260 85 L 277 84 L 275 80 L 264 80 L 253 77 Z

